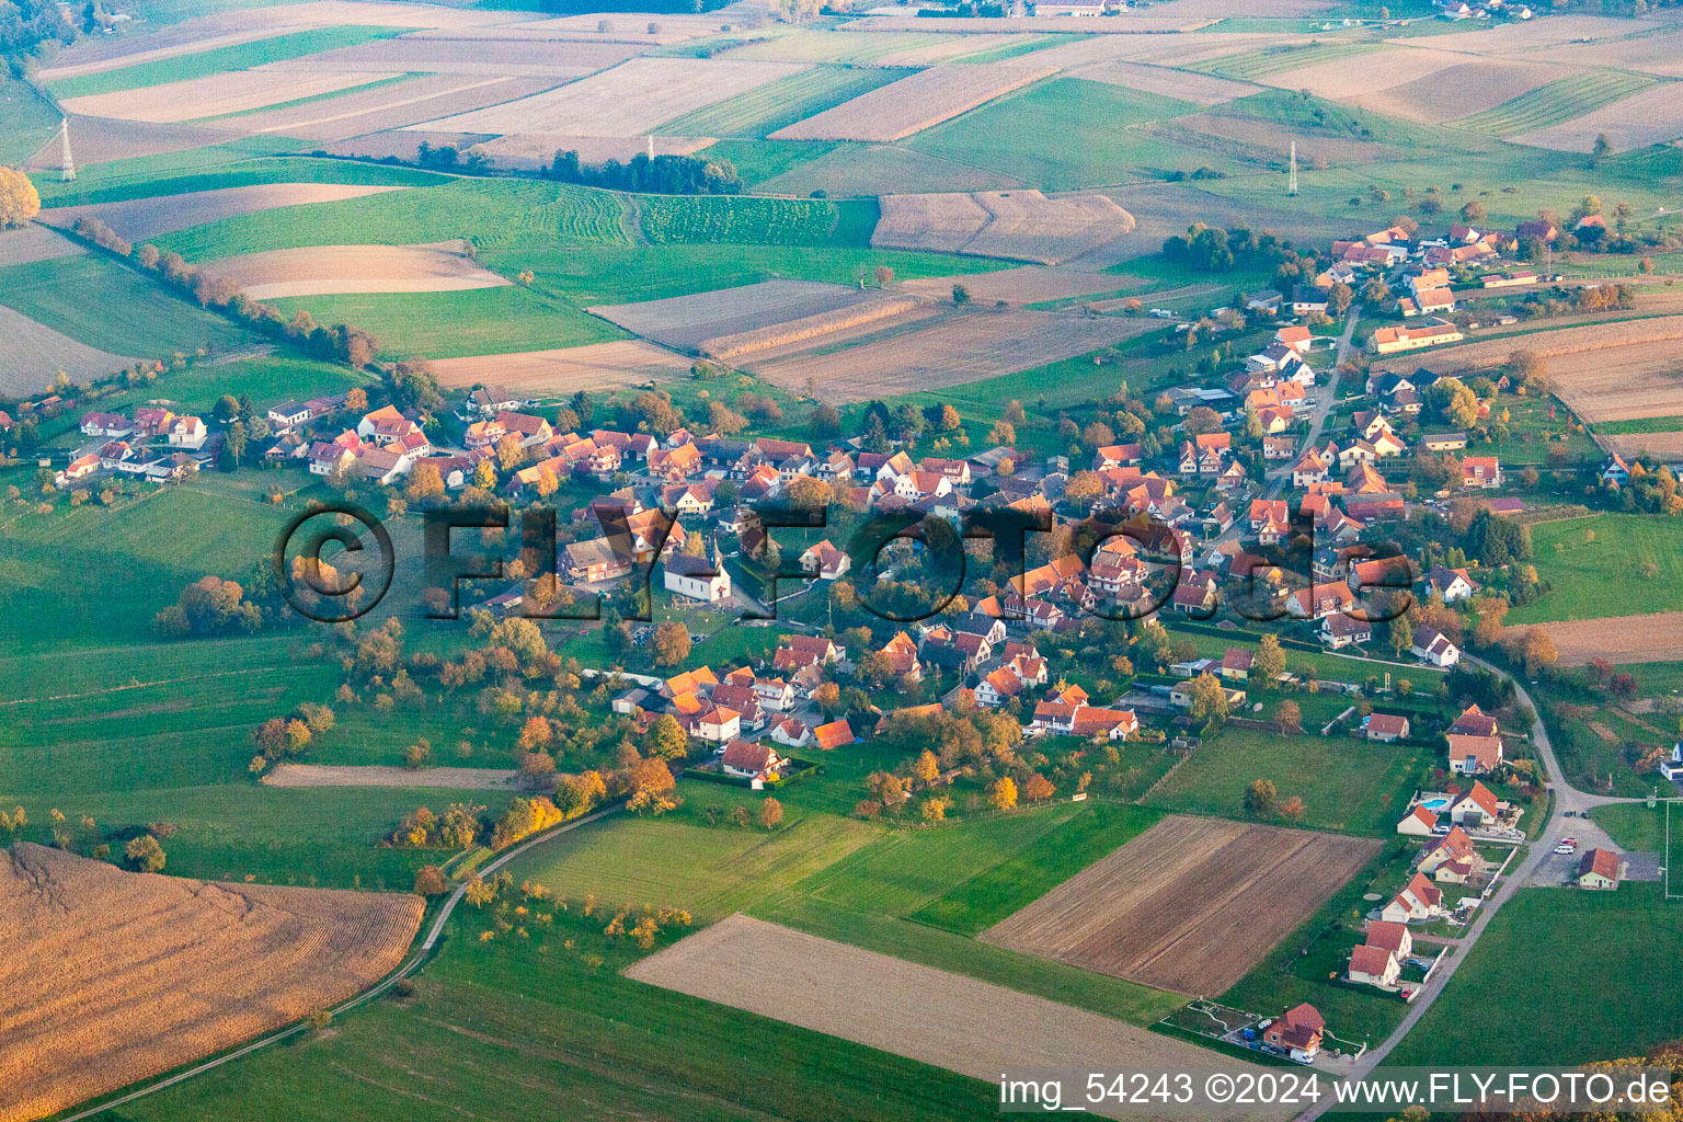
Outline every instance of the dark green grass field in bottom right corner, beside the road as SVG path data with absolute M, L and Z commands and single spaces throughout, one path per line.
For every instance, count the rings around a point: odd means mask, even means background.
M 1658 883 L 1523 888 L 1491 920 L 1394 1065 L 1555 1065 L 1641 1056 L 1683 1035 L 1670 984 L 1683 907 Z

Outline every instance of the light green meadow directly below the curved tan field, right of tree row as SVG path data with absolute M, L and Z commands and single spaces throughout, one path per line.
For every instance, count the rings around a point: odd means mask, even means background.
M 318 323 L 350 323 L 392 357 L 500 355 L 552 347 L 582 347 L 626 333 L 572 304 L 525 289 L 475 288 L 459 293 L 350 293 L 268 301 L 288 320 L 306 310 Z

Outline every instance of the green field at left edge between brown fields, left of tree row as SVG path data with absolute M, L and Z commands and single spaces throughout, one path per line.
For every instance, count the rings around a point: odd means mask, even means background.
M 98 254 L 0 269 L 0 304 L 113 355 L 167 358 L 256 341 L 251 331 Z

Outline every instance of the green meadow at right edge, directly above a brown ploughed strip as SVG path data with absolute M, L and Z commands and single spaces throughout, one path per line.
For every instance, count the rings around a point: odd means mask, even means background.
M 1676 518 L 1592 515 L 1547 521 L 1532 527 L 1532 550 L 1537 575 L 1553 589 L 1508 612 L 1510 626 L 1663 612 L 1683 597 L 1683 521 Z

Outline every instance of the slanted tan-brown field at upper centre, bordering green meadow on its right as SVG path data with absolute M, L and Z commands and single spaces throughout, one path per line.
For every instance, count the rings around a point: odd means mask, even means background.
M 1054 72 L 1033 62 L 936 66 L 779 128 L 771 140 L 902 140 Z

